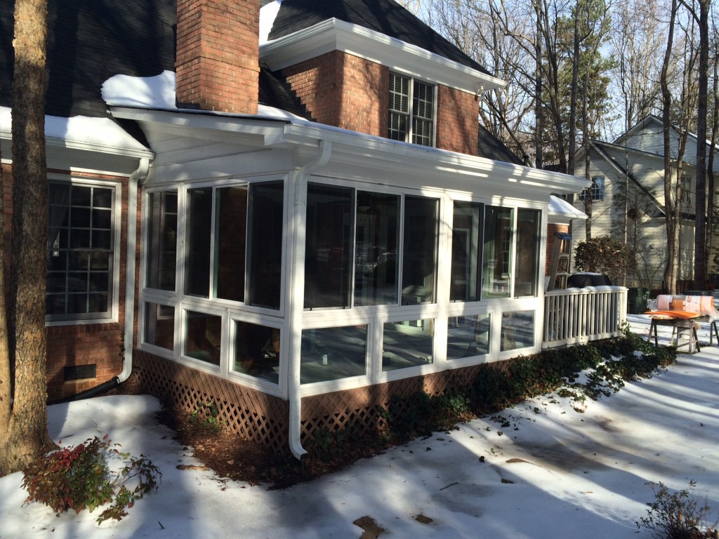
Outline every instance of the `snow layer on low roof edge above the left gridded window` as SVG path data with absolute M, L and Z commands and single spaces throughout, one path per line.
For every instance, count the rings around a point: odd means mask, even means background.
M 6 106 L 0 106 L 0 132 L 7 138 L 10 137 L 11 122 L 12 110 Z M 45 138 L 96 147 L 148 151 L 147 147 L 137 142 L 109 118 L 45 116 Z

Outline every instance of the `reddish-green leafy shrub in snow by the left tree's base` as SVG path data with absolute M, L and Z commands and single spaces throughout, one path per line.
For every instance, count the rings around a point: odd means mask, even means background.
M 95 436 L 78 446 L 60 447 L 43 455 L 23 471 L 22 486 L 28 492 L 25 502 L 45 504 L 58 516 L 68 509 L 93 512 L 112 502 L 97 522 L 121 520 L 136 499 L 157 489 L 162 474 L 147 456 L 120 453 L 117 447 L 119 444 L 111 443 L 107 435 L 102 440 Z M 111 471 L 109 455 L 119 456 L 125 466 Z M 137 486 L 130 490 L 127 484 L 132 479 L 137 480 Z

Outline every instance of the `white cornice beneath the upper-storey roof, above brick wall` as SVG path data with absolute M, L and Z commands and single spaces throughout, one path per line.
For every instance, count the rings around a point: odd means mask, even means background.
M 334 50 L 473 95 L 507 85 L 504 80 L 416 45 L 334 18 L 262 43 L 260 60 L 279 70 Z

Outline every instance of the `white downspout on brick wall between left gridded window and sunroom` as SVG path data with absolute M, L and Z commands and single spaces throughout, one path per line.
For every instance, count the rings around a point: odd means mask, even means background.
M 139 167 L 132 172 L 127 185 L 127 257 L 125 261 L 125 324 L 122 341 L 122 372 L 117 375 L 117 383 L 122 384 L 132 374 L 132 333 L 134 332 L 134 287 L 137 249 L 137 187 L 150 170 L 150 159 L 142 157 Z

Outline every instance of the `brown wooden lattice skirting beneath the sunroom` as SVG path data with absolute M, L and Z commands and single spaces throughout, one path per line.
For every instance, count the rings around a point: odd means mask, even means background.
M 399 397 L 394 405 L 399 402 L 401 407 L 404 399 L 417 392 L 441 395 L 449 387 L 468 387 L 479 368 L 477 365 L 303 397 L 302 439 L 306 441 L 320 430 L 339 432 L 351 428 L 358 435 L 383 430 L 387 425 L 382 411 L 388 410 L 393 397 Z M 134 375 L 142 392 L 155 395 L 165 405 L 192 413 L 214 402 L 218 419 L 232 432 L 262 443 L 275 453 L 289 453 L 287 401 L 144 351 L 134 351 Z

